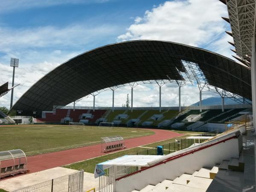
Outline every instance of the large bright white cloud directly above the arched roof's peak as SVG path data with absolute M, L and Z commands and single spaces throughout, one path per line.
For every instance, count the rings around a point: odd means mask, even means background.
M 151 39 L 202 46 L 225 31 L 227 7 L 216 0 L 166 1 L 136 17 L 118 41 Z

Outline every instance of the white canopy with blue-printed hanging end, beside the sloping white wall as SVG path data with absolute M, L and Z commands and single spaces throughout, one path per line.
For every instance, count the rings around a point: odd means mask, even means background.
M 113 165 L 148 167 L 150 166 L 149 163 L 159 160 L 161 157 L 161 155 L 125 155 L 123 157 L 97 164 L 94 170 L 94 177 L 97 178 L 105 175 L 104 170 Z

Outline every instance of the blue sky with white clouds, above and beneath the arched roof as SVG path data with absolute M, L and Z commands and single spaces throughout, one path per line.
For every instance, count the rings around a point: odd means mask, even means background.
M 0 84 L 12 82 L 11 57 L 20 59 L 14 102 L 38 79 L 68 59 L 106 44 L 136 39 L 175 41 L 231 57 L 226 6 L 216 0 L 8 0 L 0 7 Z M 129 87 L 116 90 L 116 106 Z M 140 94 L 140 97 L 136 97 Z M 177 85 L 163 86 L 162 105 L 177 106 Z M 182 103 L 198 101 L 187 87 Z M 111 92 L 100 93 L 96 106 L 111 106 Z M 204 93 L 203 98 L 214 96 Z M 0 99 L 9 106 L 10 93 Z M 171 99 L 170 99 L 171 98 Z M 92 106 L 92 98 L 79 105 Z M 134 106 L 157 106 L 158 87 L 134 89 Z

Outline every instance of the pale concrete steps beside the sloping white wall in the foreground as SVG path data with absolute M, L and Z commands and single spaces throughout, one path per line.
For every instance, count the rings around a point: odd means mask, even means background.
M 221 164 L 216 164 L 212 168 L 201 168 L 192 175 L 184 173 L 174 180 L 166 179 L 157 185 L 145 186 L 140 192 L 206 192 L 219 171 L 230 169 L 244 172 L 244 163 L 237 158 L 223 160 Z M 133 190 L 132 192 L 138 191 Z

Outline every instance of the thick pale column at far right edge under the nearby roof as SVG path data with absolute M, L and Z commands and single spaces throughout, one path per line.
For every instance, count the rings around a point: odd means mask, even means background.
M 252 38 L 252 58 L 251 58 L 251 81 L 252 81 L 252 101 L 253 101 L 253 131 L 256 135 L 256 35 Z

